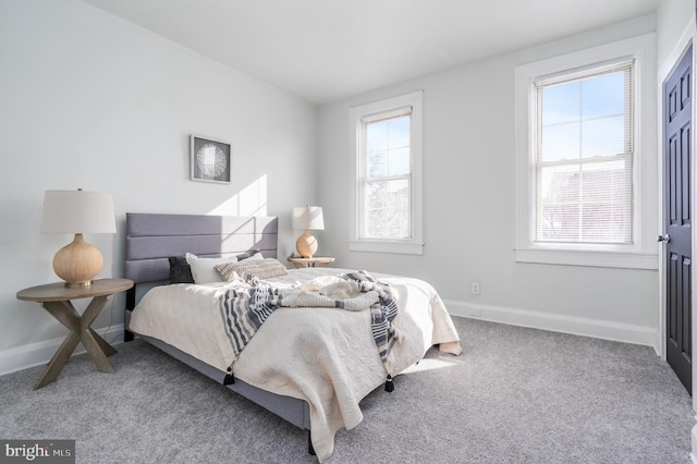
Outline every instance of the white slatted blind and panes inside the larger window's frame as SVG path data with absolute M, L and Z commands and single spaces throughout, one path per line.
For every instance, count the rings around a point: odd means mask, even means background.
M 633 68 L 535 81 L 535 242 L 632 243 Z

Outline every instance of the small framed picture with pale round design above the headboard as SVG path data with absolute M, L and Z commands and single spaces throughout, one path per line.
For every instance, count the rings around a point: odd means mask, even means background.
M 191 136 L 192 181 L 230 183 L 232 152 L 230 144 Z

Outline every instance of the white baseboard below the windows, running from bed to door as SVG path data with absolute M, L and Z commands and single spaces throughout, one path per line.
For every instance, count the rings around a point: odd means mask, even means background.
M 656 328 L 456 301 L 443 303 L 453 316 L 647 345 L 660 355 L 659 333 Z

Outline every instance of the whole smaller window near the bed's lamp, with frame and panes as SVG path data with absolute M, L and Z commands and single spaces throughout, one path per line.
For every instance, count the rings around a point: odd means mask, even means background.
M 352 108 L 350 249 L 421 254 L 421 91 Z

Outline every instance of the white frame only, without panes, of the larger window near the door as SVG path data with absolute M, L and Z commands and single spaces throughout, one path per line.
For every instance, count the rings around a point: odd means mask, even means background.
M 646 73 L 655 62 L 655 34 L 647 34 L 551 59 L 537 61 L 515 69 L 515 176 L 516 228 L 515 260 L 572 266 L 597 266 L 634 269 L 658 269 L 656 246 L 649 248 L 643 230 L 644 196 L 641 172 L 644 151 L 655 150 L 646 146 L 653 137 L 643 137 L 641 126 L 650 121 L 643 113 L 645 101 L 655 94 L 644 85 Z M 607 64 L 613 61 L 634 60 L 634 176 L 633 176 L 633 237 L 629 245 L 572 244 L 535 242 L 535 172 L 534 172 L 534 93 L 535 81 L 553 75 Z M 646 105 L 650 107 L 650 105 Z M 652 129 L 652 127 L 651 127 Z M 653 243 L 655 245 L 655 243 Z

